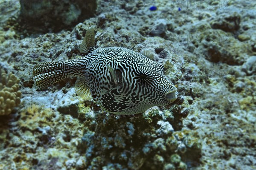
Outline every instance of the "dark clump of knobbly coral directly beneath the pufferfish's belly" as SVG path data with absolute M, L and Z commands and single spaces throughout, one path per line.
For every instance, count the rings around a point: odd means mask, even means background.
M 165 122 L 158 121 L 161 119 Z M 169 124 L 173 119 L 172 113 L 157 107 L 138 116 L 87 116 L 84 122 L 87 128 L 78 147 L 87 158 L 85 168 L 104 169 L 108 162 L 116 162 L 118 164 L 108 164 L 108 168 L 149 170 L 162 169 L 165 164 L 178 167 L 184 164 L 183 158 L 198 161 L 201 146 L 188 142 L 197 135 L 188 129 L 174 132 Z M 170 159 L 172 154 L 176 154 L 180 161 Z

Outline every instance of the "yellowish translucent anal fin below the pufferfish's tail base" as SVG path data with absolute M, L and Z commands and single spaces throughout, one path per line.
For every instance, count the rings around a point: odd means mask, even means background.
M 90 88 L 87 87 L 87 85 L 85 84 L 85 80 L 81 77 L 76 80 L 75 91 L 78 96 L 84 98 L 85 100 L 93 99 L 90 94 Z

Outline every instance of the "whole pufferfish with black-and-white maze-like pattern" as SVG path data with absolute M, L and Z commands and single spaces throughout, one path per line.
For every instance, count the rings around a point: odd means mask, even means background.
M 35 65 L 35 85 L 46 88 L 67 77 L 78 77 L 76 94 L 93 99 L 114 114 L 143 113 L 177 99 L 177 88 L 166 78 L 163 65 L 127 48 L 96 48 L 94 29 L 87 30 L 80 45 L 79 59 L 44 62 Z

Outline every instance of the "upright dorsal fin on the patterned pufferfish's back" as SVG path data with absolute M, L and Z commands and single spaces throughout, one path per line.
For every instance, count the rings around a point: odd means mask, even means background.
M 95 50 L 94 28 L 87 29 L 84 40 L 80 45 L 80 53 L 90 53 Z

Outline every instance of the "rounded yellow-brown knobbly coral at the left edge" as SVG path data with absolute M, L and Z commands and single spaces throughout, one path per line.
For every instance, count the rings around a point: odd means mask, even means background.
M 20 79 L 14 74 L 1 71 L 0 81 L 0 115 L 10 114 L 15 107 L 20 105 L 21 92 L 18 83 Z

